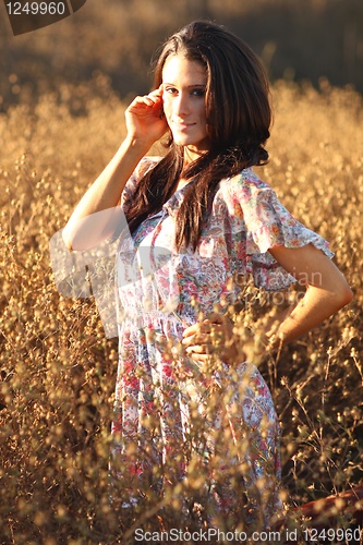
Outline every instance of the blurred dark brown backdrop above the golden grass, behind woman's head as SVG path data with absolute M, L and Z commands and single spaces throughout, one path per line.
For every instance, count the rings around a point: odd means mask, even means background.
M 363 90 L 363 3 L 361 0 L 87 0 L 57 25 L 13 38 L 0 16 L 2 107 L 62 82 L 110 77 L 121 95 L 148 88 L 152 52 L 193 19 L 226 24 L 261 55 L 271 78 L 320 76 L 332 85 Z M 10 81 L 9 81 L 10 77 Z M 82 105 L 73 100 L 75 111 Z

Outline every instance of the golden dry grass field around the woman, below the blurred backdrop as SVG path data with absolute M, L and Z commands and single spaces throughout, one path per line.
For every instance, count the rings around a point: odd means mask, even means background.
M 354 291 L 349 307 L 261 365 L 281 422 L 292 512 L 362 480 L 363 105 L 326 82 L 319 90 L 277 82 L 273 96 L 270 161 L 258 173 L 330 241 Z M 96 75 L 0 116 L 2 544 L 133 543 L 141 524 L 180 528 L 179 485 L 164 511 L 153 496 L 124 517 L 110 506 L 117 341 L 105 338 L 92 299 L 58 293 L 50 266 L 49 240 L 119 145 L 124 106 Z M 339 513 L 339 528 L 352 522 Z

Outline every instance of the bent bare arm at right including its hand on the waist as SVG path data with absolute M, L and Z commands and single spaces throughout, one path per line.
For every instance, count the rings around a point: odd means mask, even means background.
M 269 252 L 281 267 L 306 288 L 299 303 L 280 318 L 277 329 L 274 325 L 274 328 L 265 331 L 266 349 L 276 349 L 322 324 L 348 304 L 353 293 L 340 270 L 313 244 L 298 249 L 274 246 Z M 182 343 L 187 355 L 198 362 L 207 361 L 214 350 L 211 336 L 216 334 L 221 337 L 221 346 L 227 341 L 220 354 L 223 361 L 235 362 L 239 354 L 233 343 L 233 327 L 228 318 L 218 314 L 184 330 Z

